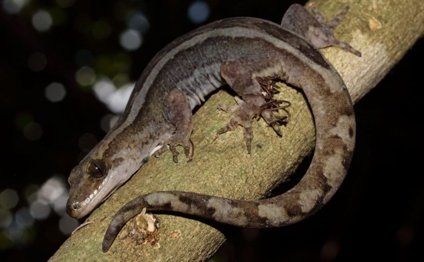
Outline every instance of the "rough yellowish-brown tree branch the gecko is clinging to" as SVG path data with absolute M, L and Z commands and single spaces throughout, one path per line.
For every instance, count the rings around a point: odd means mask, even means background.
M 336 48 L 327 48 L 323 53 L 340 72 L 354 102 L 389 72 L 424 31 L 424 2 L 421 0 L 361 3 L 326 0 L 311 3 L 315 3 L 326 17 L 333 16 L 346 5 L 351 6 L 336 35 L 360 50 L 362 58 Z M 87 218 L 94 223 L 69 237 L 50 260 L 208 259 L 225 241 L 224 235 L 213 227 L 217 225 L 175 214 L 158 215 L 159 248 L 137 245 L 136 240 L 128 236 L 132 221 L 123 228 L 109 252 L 102 253 L 101 244 L 112 216 L 124 203 L 144 193 L 181 190 L 238 199 L 267 196 L 296 170 L 315 145 L 314 122 L 302 93 L 282 85 L 278 97 L 292 103 L 287 108 L 288 114 L 285 113 L 289 115 L 289 120 L 282 127 L 283 138 L 278 137 L 263 120 L 259 120 L 254 126 L 252 154 L 248 155 L 242 128 L 220 135 L 214 141 L 216 130 L 230 118 L 230 115 L 217 110 L 216 106 L 219 103 L 234 103 L 227 92 L 217 92 L 194 116 L 194 160 L 187 163 L 180 157 L 180 163 L 175 164 L 170 153 L 149 160 Z

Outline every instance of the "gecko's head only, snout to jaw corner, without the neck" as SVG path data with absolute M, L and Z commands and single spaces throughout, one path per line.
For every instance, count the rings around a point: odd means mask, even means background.
M 138 167 L 128 170 L 128 163 L 124 164 L 123 158 L 108 161 L 86 156 L 69 175 L 66 212 L 74 218 L 86 216 L 129 179 Z

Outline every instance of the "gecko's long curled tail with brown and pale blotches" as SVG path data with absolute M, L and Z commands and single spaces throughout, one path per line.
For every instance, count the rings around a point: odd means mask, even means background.
M 109 224 L 103 252 L 112 245 L 124 224 L 148 211 L 173 211 L 249 228 L 280 227 L 300 221 L 319 210 L 341 185 L 355 145 L 355 116 L 344 85 L 337 91 L 304 88 L 315 116 L 317 141 L 314 157 L 301 181 L 286 193 L 257 201 L 234 200 L 192 192 L 163 191 L 133 199 Z M 314 95 L 311 96 L 311 92 Z

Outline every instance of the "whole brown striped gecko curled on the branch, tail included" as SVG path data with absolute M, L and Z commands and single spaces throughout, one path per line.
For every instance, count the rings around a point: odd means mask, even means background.
M 281 227 L 314 214 L 339 189 L 355 147 L 351 97 L 339 73 L 318 50 L 336 46 L 361 56 L 334 36 L 347 10 L 327 22 L 316 8 L 311 14 L 294 4 L 281 24 L 252 17 L 227 18 L 165 46 L 141 73 L 114 127 L 72 169 L 67 213 L 75 218 L 86 216 L 154 154 L 169 149 L 173 161 L 178 162 L 176 146 L 182 146 L 190 161 L 194 150 L 192 110 L 225 84 L 240 98 L 236 106 L 222 106 L 233 117 L 217 134 L 243 126 L 250 154 L 252 121 L 260 116 L 281 136 L 281 117 L 267 106 L 278 109 L 279 102 L 264 95 L 261 83 L 284 81 L 303 90 L 316 126 L 314 156 L 298 184 L 281 195 L 260 200 L 179 191 L 139 196 L 114 216 L 102 250 L 107 252 L 124 224 L 143 209 L 186 213 L 249 228 Z

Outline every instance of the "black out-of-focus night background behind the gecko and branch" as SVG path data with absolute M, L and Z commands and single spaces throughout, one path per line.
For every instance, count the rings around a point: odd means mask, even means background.
M 76 82 L 76 71 L 85 65 L 98 76 L 112 79 L 121 73 L 123 79 L 135 81 L 157 51 L 198 26 L 187 16 L 193 1 L 78 1 L 66 8 L 58 5 L 66 2 L 72 4 L 69 0 L 31 1 L 17 14 L 0 9 L 0 194 L 11 189 L 19 196 L 16 205 L 8 209 L 13 221 L 0 227 L 2 260 L 46 260 L 67 238 L 58 227 L 63 216 L 56 212 L 25 227 L 17 227 L 15 220 L 19 210 L 29 207 L 28 195 L 34 189 L 52 176 L 65 184 L 72 167 L 95 140 L 105 135 L 100 119 L 112 113 L 94 96 L 91 86 L 81 87 Z M 268 0 L 206 2 L 210 15 L 201 24 L 231 16 L 261 17 L 279 23 L 291 4 Z M 39 9 L 53 17 L 48 31 L 39 32 L 31 24 L 32 15 Z M 126 51 L 118 40 L 128 27 L 125 15 L 131 10 L 143 13 L 150 28 L 142 33 L 139 49 Z M 98 21 L 108 25 L 108 33 L 94 32 Z M 352 167 L 326 207 L 305 221 L 281 229 L 229 230 L 230 241 L 215 255 L 215 261 L 424 260 L 420 252 L 424 178 L 418 167 L 423 157 L 419 64 L 424 60 L 423 45 L 418 41 L 355 105 L 358 130 Z M 76 59 L 81 49 L 89 50 L 92 57 Z M 46 57 L 41 71 L 28 66 L 34 52 Z M 116 55 L 126 58 L 118 69 L 112 66 Z M 44 95 L 52 82 L 62 83 L 66 89 L 65 98 L 57 103 Z M 33 123 L 42 128 L 41 134 Z M 87 133 L 91 139 L 82 139 Z

